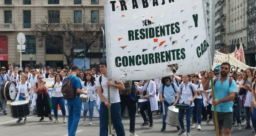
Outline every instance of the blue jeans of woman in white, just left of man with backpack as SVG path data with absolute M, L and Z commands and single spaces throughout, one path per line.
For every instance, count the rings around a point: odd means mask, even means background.
M 55 119 L 58 119 L 58 104 L 63 116 L 66 116 L 65 101 L 63 97 L 52 97 L 52 108 Z

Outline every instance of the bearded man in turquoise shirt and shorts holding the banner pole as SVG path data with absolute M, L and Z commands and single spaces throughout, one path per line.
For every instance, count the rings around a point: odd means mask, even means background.
M 237 88 L 236 82 L 228 77 L 230 68 L 231 66 L 228 62 L 222 63 L 220 68 L 220 77 L 213 79 L 215 100 L 212 100 L 212 105 L 216 105 L 220 136 L 222 136 L 222 129 L 224 129 L 225 136 L 231 136 L 230 130 L 232 129 L 233 123 L 232 107 L 234 103 L 232 100 L 235 98 Z M 208 79 L 204 84 L 204 90 L 209 90 L 211 88 L 210 79 L 213 77 L 214 73 L 209 72 Z M 212 114 L 214 114 L 213 106 L 211 111 Z

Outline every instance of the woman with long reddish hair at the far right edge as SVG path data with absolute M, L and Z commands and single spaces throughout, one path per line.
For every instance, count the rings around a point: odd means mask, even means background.
M 250 117 L 252 118 L 252 111 L 251 111 L 251 100 L 252 100 L 252 93 L 251 93 L 251 85 L 252 85 L 252 79 L 253 79 L 253 72 L 254 70 L 252 68 L 248 68 L 246 70 L 245 77 L 241 83 L 240 88 L 246 89 L 246 99 L 244 103 L 244 109 L 245 109 L 245 118 L 246 118 L 246 127 L 245 129 L 250 129 Z M 245 97 L 245 96 L 244 96 Z

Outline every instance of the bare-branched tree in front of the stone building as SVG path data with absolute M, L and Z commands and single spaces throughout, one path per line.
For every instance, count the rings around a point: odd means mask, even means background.
M 51 20 L 51 21 L 50 21 Z M 50 23 L 49 23 L 50 22 Z M 67 65 L 72 66 L 74 58 L 84 51 L 75 53 L 74 49 L 80 47 L 80 49 L 86 46 L 85 51 L 88 52 L 89 48 L 93 44 L 100 43 L 100 37 L 102 36 L 102 24 L 89 23 L 89 19 L 85 19 L 85 23 L 73 23 L 72 19 L 65 18 L 61 20 L 48 19 L 45 17 L 41 19 L 31 29 L 33 36 L 39 40 L 45 39 L 47 48 L 51 49 L 52 54 L 62 53 L 67 60 Z M 63 37 L 68 40 L 70 45 L 68 48 L 63 48 Z

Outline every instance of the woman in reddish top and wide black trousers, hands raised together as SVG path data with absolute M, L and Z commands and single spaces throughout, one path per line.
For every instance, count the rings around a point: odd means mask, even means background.
M 38 81 L 33 86 L 34 93 L 37 93 L 37 117 L 41 117 L 39 121 L 44 121 L 44 117 L 49 117 L 49 120 L 53 121 L 51 116 L 50 97 L 47 91 L 48 87 L 42 79 L 42 75 L 37 75 Z

